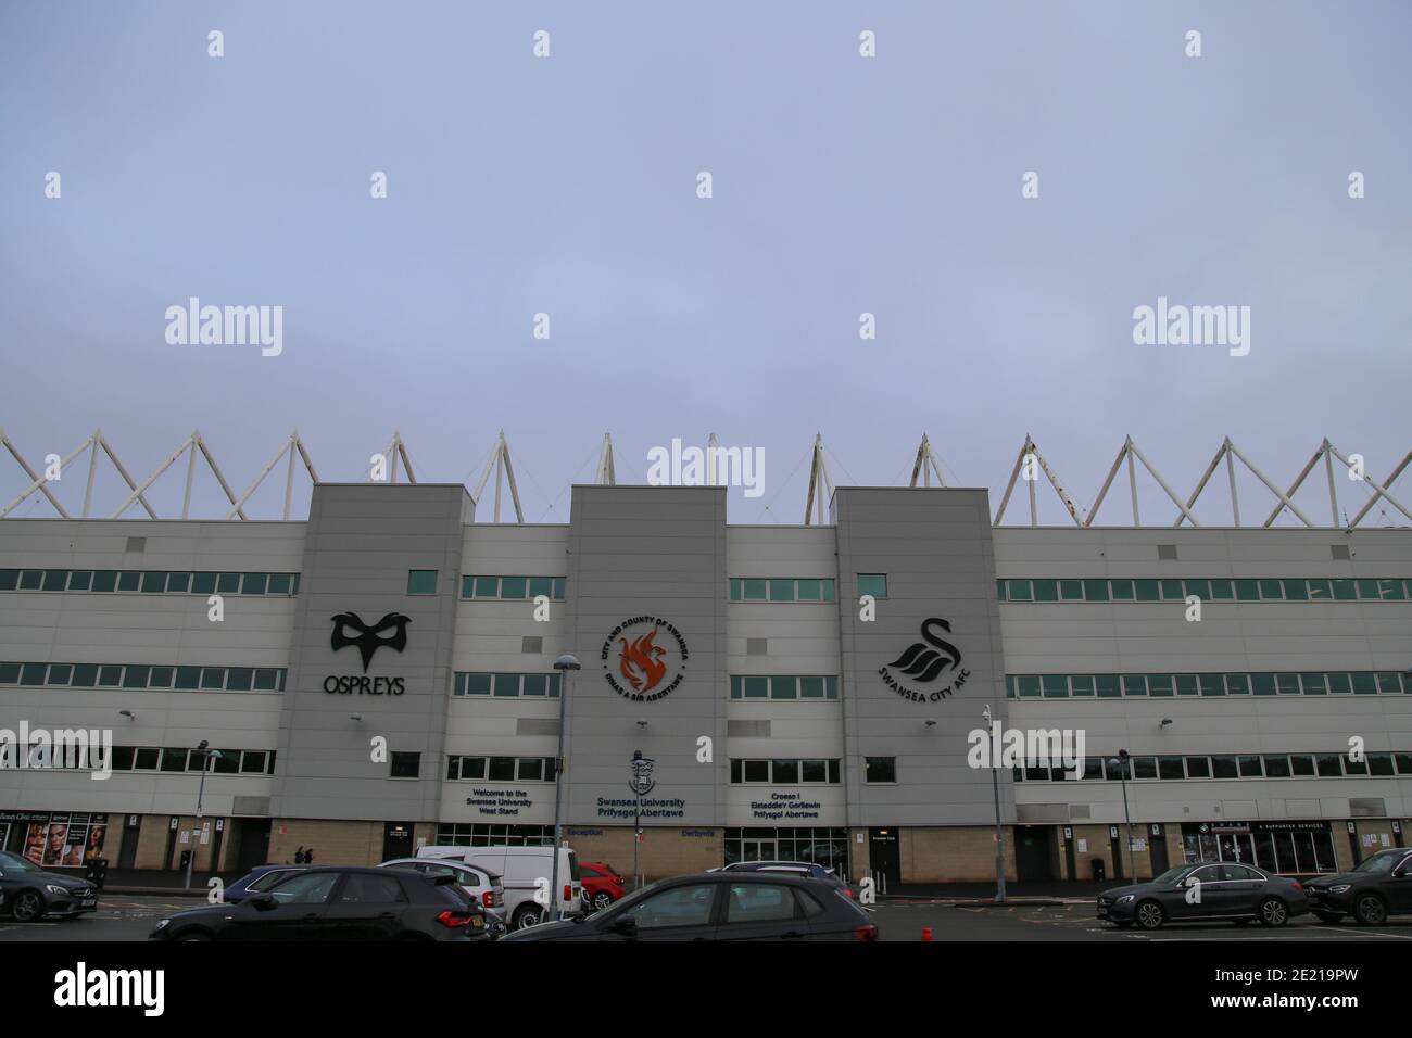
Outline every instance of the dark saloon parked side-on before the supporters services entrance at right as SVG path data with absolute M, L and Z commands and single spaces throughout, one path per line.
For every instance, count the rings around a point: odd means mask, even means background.
M 1265 926 L 1284 926 L 1291 917 L 1308 911 L 1309 898 L 1298 880 L 1234 861 L 1168 869 L 1151 883 L 1099 894 L 1100 919 L 1115 926 L 1137 924 L 1142 929 L 1219 919 L 1237 925 L 1260 919 Z

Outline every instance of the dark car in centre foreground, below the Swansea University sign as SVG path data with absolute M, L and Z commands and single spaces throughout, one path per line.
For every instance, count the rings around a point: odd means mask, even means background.
M 611 908 L 515 931 L 504 941 L 877 941 L 878 928 L 837 888 L 762 871 L 659 880 Z

